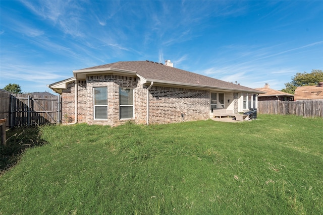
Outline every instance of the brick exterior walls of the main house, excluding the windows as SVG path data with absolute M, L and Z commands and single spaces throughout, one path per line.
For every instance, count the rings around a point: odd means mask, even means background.
M 108 119 L 94 120 L 93 88 L 107 87 Z M 86 81 L 78 81 L 78 122 L 118 126 L 129 120 L 119 119 L 119 87 L 134 89 L 135 119 L 138 124 L 146 124 L 147 88 L 136 77 L 116 75 L 88 76 Z M 67 84 L 62 93 L 63 123 L 74 122 L 75 83 Z M 181 114 L 184 114 L 182 118 Z M 209 118 L 209 91 L 152 86 L 149 90 L 149 124 L 204 120 Z

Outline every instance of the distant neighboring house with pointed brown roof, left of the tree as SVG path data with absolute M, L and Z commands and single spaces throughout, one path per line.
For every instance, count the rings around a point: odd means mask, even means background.
M 271 89 L 268 83 L 266 83 L 263 88 L 255 88 L 255 90 L 260 90 L 265 92 L 264 94 L 260 94 L 258 96 L 258 101 L 273 101 L 273 100 L 293 101 L 294 99 L 293 94 Z

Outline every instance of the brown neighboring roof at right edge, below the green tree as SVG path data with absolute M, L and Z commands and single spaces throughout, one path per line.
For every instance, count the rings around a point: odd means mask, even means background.
M 294 100 L 323 99 L 323 82 L 317 86 L 297 87 Z

